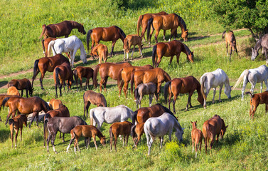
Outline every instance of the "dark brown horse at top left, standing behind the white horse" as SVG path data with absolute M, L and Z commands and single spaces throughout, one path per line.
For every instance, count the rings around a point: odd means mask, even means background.
M 65 38 L 67 38 L 74 28 L 77 28 L 78 31 L 82 34 L 86 33 L 83 24 L 79 24 L 76 21 L 63 21 L 58 24 L 49 24 L 48 26 L 43 24 L 42 28 L 43 31 L 39 38 L 42 38 L 43 35 L 44 38 L 55 38 L 61 36 L 65 36 Z

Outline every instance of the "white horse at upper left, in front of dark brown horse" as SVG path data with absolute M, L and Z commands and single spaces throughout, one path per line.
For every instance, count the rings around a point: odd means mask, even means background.
M 75 53 L 77 49 L 80 48 L 80 59 L 83 63 L 87 63 L 87 53 L 85 53 L 85 48 L 77 36 L 73 35 L 68 38 L 58 38 L 55 41 L 50 41 L 48 44 L 48 57 L 50 56 L 50 51 L 53 51 L 53 55 L 55 56 L 58 53 L 68 53 L 70 52 L 70 63 L 73 67 L 73 63 L 75 61 Z

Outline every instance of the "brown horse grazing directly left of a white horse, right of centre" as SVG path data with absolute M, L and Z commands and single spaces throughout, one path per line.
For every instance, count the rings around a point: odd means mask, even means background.
M 169 97 L 168 97 L 169 110 L 171 109 L 171 98 L 172 98 L 172 95 L 174 95 L 173 113 L 176 113 L 175 103 L 176 103 L 179 93 L 183 93 L 183 94 L 188 93 L 188 103 L 186 105 L 186 110 L 188 110 L 188 105 L 190 105 L 190 108 L 193 108 L 193 106 L 191 105 L 191 97 L 195 90 L 197 90 L 198 92 L 198 102 L 201 105 L 203 105 L 204 98 L 203 98 L 203 95 L 201 94 L 200 88 L 201 88 L 200 83 L 193 76 L 188 76 L 185 78 L 174 78 L 172 81 L 168 81 L 164 86 L 164 97 L 166 100 L 169 94 Z

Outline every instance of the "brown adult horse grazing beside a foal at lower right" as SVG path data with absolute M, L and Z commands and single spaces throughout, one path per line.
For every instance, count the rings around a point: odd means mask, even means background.
M 212 146 L 216 141 L 218 142 L 218 138 L 220 135 L 220 138 L 223 138 L 223 135 L 225 135 L 226 128 L 228 127 L 225 126 L 224 120 L 220 118 L 219 115 L 214 115 L 213 118 L 210 118 L 209 120 L 205 121 L 203 124 L 202 132 L 203 132 L 203 137 L 204 137 L 204 142 L 205 142 L 205 153 L 207 153 L 207 146 L 208 143 L 210 142 L 210 154 L 212 155 Z

